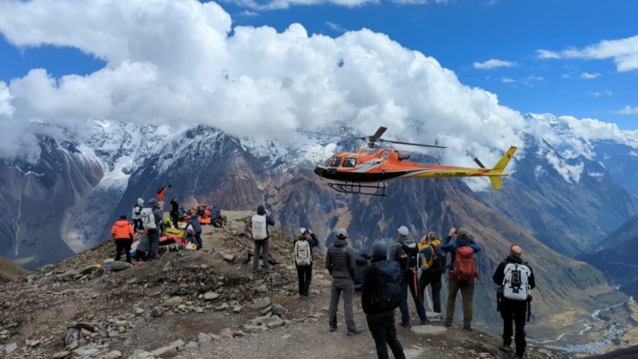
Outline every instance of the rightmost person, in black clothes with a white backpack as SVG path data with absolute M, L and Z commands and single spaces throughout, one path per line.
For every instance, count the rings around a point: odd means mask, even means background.
M 521 254 L 523 254 L 523 249 L 520 246 L 510 246 L 510 255 L 505 261 L 499 264 L 494 271 L 494 276 L 492 276 L 494 283 L 501 286 L 501 290 L 499 291 L 501 297 L 499 310 L 501 311 L 501 317 L 503 319 L 502 349 L 508 352 L 511 350 L 511 336 L 514 334 L 516 355 L 519 357 L 525 355 L 525 345 L 527 344 L 525 342 L 525 304 L 529 305 L 529 301 L 531 300 L 529 290 L 536 287 L 536 279 L 534 278 L 532 267 L 521 259 Z M 512 269 L 524 272 L 524 275 L 519 275 L 519 279 L 525 276 L 526 285 L 528 285 L 528 287 L 525 288 L 527 292 L 524 295 L 525 299 L 515 300 L 503 296 L 506 283 L 505 279 L 508 272 Z M 510 281 L 512 280 L 510 279 Z M 516 332 L 514 332 L 512 321 L 514 325 L 516 325 Z

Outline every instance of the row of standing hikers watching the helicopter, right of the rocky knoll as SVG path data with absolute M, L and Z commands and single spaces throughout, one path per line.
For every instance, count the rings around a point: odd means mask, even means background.
M 268 224 L 274 224 L 272 216 L 262 207 L 258 208 L 258 215 L 260 213 L 266 218 L 263 221 L 267 223 L 266 228 Z M 440 289 L 442 276 L 446 272 L 448 292 L 445 325 L 453 324 L 456 295 L 461 292 L 463 330 L 472 330 L 474 279 L 478 277 L 474 254 L 481 251 L 481 246 L 471 237 L 468 230 L 452 228 L 442 241 L 436 232 L 429 232 L 416 243 L 409 240 L 408 227 L 401 226 L 397 230 L 397 240 L 390 246 L 386 246 L 383 241 L 377 241 L 371 247 L 370 256 L 363 254 L 359 257 L 356 257 L 354 249 L 348 246 L 345 228 L 338 228 L 334 236 L 335 241 L 328 247 L 325 259 L 325 268 L 332 277 L 328 310 L 331 332 L 338 330 L 337 311 L 342 294 L 346 334 L 357 335 L 362 332 L 354 322 L 353 312 L 354 292 L 361 291 L 363 312 L 375 340 L 378 357 L 389 357 L 389 346 L 395 358 L 405 358 L 401 342 L 397 338 L 394 311 L 400 308 L 400 325 L 408 327 L 409 292 L 416 306 L 420 324 L 430 323 L 424 307 L 425 287 L 432 286 L 432 307 L 435 312 L 441 313 Z M 265 246 L 264 255 L 259 251 L 259 248 L 264 247 L 264 243 L 261 242 L 258 246 L 258 242 L 259 240 L 255 241 L 253 270 L 257 268 L 260 255 L 264 259 L 264 265 L 268 265 L 268 245 Z M 312 278 L 312 250 L 318 244 L 315 233 L 306 228 L 301 228 L 300 233 L 293 239 L 301 299 L 308 298 Z M 532 299 L 529 291 L 535 287 L 535 280 L 532 269 L 522 261 L 521 254 L 520 246 L 511 246 L 510 255 L 494 271 L 493 280 L 500 287 L 498 310 L 504 324 L 502 350 L 512 351 L 514 335 L 515 354 L 522 357 L 526 345 L 525 313 L 529 320 L 529 302 Z

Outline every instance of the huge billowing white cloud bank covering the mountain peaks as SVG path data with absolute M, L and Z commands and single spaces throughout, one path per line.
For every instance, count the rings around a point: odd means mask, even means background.
M 59 78 L 33 69 L 5 84 L 12 113 L 4 114 L 11 121 L 2 121 L 0 132 L 17 138 L 15 123 L 24 121 L 73 128 L 106 119 L 203 123 L 240 137 L 284 140 L 292 129 L 347 121 L 364 133 L 385 125 L 388 138 L 436 140 L 448 146 L 445 163 L 466 166 L 474 155 L 494 163 L 510 144 L 523 143 L 519 113 L 387 35 L 308 35 L 300 24 L 281 33 L 230 30 L 219 5 L 195 0 L 4 0 L 0 34 L 10 43 L 71 46 L 106 65 Z M 0 148 L 0 155 L 18 151 L 29 151 L 27 144 Z

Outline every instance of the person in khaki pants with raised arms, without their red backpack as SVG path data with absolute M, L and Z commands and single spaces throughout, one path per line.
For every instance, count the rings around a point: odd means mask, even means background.
M 455 238 L 455 241 L 452 241 Z M 480 252 L 481 247 L 478 243 L 471 238 L 468 230 L 461 228 L 456 230 L 452 227 L 447 235 L 447 238 L 443 242 L 441 249 L 450 254 L 450 275 L 449 283 L 447 285 L 447 310 L 446 310 L 446 325 L 451 326 L 455 313 L 455 301 L 456 293 L 461 291 L 461 298 L 463 301 L 463 330 L 471 331 L 472 322 L 472 300 L 474 298 L 474 278 L 470 280 L 458 280 L 455 279 L 451 273 L 455 268 L 456 252 L 461 247 L 470 247 L 471 253 L 477 254 Z

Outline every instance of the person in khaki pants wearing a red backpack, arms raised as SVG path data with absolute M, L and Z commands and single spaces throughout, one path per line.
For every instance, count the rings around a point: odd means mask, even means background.
M 452 238 L 455 238 L 455 241 L 452 241 Z M 452 325 L 455 313 L 456 293 L 460 290 L 461 299 L 463 300 L 463 330 L 471 331 L 474 277 L 478 275 L 474 254 L 480 252 L 481 247 L 470 237 L 468 230 L 461 228 L 457 231 L 452 227 L 441 249 L 449 252 L 452 257 L 447 289 L 446 325 Z M 462 269 L 462 267 L 466 275 L 457 277 L 456 273 Z

